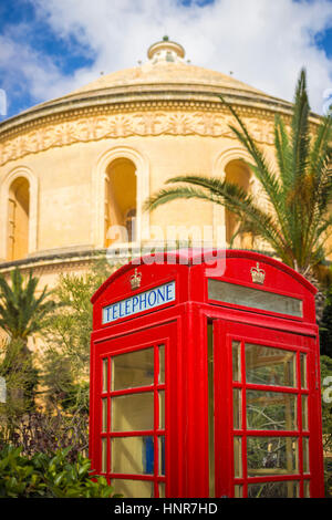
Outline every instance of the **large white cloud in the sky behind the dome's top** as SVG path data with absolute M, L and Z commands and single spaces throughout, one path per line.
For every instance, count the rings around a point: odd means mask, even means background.
M 190 7 L 176 0 L 33 3 L 56 35 L 68 42 L 75 37 L 95 55 L 92 66 L 68 77 L 50 58 L 25 48 L 15 67 L 22 67 L 31 92 L 41 101 L 68 93 L 101 71 L 135 66 L 164 34 L 185 46 L 193 64 L 226 74 L 234 71 L 235 77 L 290 101 L 304 65 L 311 105 L 320 113 L 323 92 L 332 86 L 332 60 L 314 44 L 314 38 L 332 27 L 329 0 L 216 0 L 206 6 L 196 0 Z M 8 55 L 17 50 L 10 39 L 2 43 Z

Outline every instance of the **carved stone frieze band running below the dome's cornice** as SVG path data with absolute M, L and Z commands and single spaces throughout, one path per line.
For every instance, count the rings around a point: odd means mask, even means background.
M 259 114 L 242 116 L 258 143 L 273 143 L 273 119 Z M 0 144 L 0 165 L 53 147 L 103 138 L 159 135 L 200 135 L 234 138 L 231 115 L 215 111 L 141 111 L 81 116 L 41 126 Z

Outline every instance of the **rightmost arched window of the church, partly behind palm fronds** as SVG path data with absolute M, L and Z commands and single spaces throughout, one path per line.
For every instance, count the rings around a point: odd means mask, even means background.
M 250 170 L 248 166 L 240 159 L 230 160 L 225 168 L 226 180 L 237 184 L 240 186 L 245 191 L 249 190 L 249 181 L 250 181 Z M 230 245 L 234 235 L 237 232 L 239 228 L 239 220 L 235 214 L 229 210 L 225 211 L 225 223 L 226 223 L 226 241 L 228 246 Z M 238 236 L 235 241 L 234 246 L 236 247 L 250 247 L 248 242 L 248 237 Z

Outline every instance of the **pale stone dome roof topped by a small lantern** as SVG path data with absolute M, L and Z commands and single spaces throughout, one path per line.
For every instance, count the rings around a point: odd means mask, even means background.
M 41 103 L 0 124 L 9 128 L 21 121 L 89 105 L 137 101 L 209 101 L 220 104 L 218 94 L 240 105 L 289 112 L 291 104 L 255 89 L 231 75 L 196 66 L 185 61 L 185 50 L 164 38 L 147 51 L 147 61 L 138 66 L 108 74 L 59 98 Z

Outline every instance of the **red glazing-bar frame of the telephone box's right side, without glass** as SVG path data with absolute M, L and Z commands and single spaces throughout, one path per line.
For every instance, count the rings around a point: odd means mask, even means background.
M 248 497 L 248 485 L 263 483 L 263 482 L 299 482 L 299 497 L 303 497 L 303 482 L 310 482 L 310 496 L 314 496 L 313 480 L 314 467 L 313 460 L 310 456 L 314 437 L 315 422 L 313 418 L 314 410 L 312 409 L 312 393 L 314 391 L 314 353 L 311 346 L 314 345 L 314 340 L 293 334 L 294 342 L 290 342 L 291 334 L 278 331 L 278 339 L 273 341 L 273 331 L 267 330 L 256 325 L 246 325 L 242 323 L 230 323 L 221 320 L 214 320 L 215 323 L 215 453 L 216 453 L 216 482 L 219 487 L 216 489 L 216 496 L 235 496 L 235 486 L 242 486 L 242 497 Z M 216 326 L 217 325 L 217 326 Z M 241 363 L 240 363 L 240 382 L 232 381 L 232 343 L 239 342 L 241 349 Z M 260 385 L 247 383 L 246 381 L 246 353 L 245 345 L 255 344 L 266 347 L 280 349 L 282 351 L 291 351 L 297 355 L 297 381 L 295 386 L 277 386 L 277 385 Z M 301 387 L 301 353 L 307 354 L 307 388 Z M 216 367 L 228 366 L 228 376 L 218 377 Z M 224 373 L 225 374 L 225 373 Z M 221 381 L 222 379 L 222 381 Z M 234 427 L 234 389 L 241 391 L 241 428 Z M 294 430 L 255 430 L 247 428 L 247 391 L 261 391 L 261 392 L 276 392 L 295 395 L 297 403 L 297 429 Z M 308 398 L 308 430 L 303 430 L 302 425 L 302 396 Z M 226 398 L 225 398 L 226 397 Z M 242 476 L 235 477 L 235 460 L 234 460 L 234 438 L 241 437 L 242 453 L 241 465 Z M 282 475 L 266 475 L 266 476 L 248 476 L 248 460 L 247 460 L 247 439 L 248 437 L 291 437 L 298 439 L 298 472 L 282 474 Z M 303 439 L 309 440 L 309 472 L 303 472 Z M 229 471 L 225 471 L 225 462 L 228 461 Z

